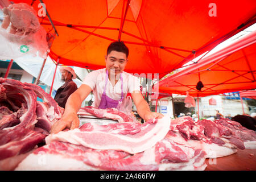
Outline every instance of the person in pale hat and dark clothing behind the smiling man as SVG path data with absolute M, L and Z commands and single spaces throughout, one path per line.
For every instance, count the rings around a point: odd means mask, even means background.
M 77 90 L 77 85 L 72 79 L 76 79 L 76 73 L 71 67 L 60 67 L 61 80 L 65 83 L 57 89 L 54 100 L 60 107 L 65 108 L 68 97 Z

